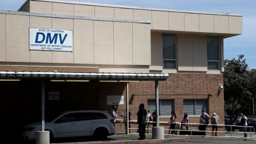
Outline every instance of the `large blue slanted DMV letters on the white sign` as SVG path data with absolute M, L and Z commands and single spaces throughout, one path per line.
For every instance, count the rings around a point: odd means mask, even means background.
M 38 39 L 39 35 L 42 35 L 42 39 Z M 60 40 L 60 44 L 63 44 L 65 42 L 65 39 L 67 38 L 68 34 L 65 34 L 65 36 L 63 37 L 62 39 L 62 35 L 59 34 L 59 40 Z M 53 37 L 51 36 L 51 33 L 47 33 L 46 34 L 46 39 L 45 39 L 45 34 L 44 33 L 40 33 L 40 32 L 37 32 L 36 33 L 36 39 L 35 39 L 35 43 L 43 43 L 45 40 L 45 43 L 50 43 L 52 44 L 54 42 L 54 44 L 57 43 L 57 40 L 58 40 L 58 34 L 55 33 L 53 35 Z

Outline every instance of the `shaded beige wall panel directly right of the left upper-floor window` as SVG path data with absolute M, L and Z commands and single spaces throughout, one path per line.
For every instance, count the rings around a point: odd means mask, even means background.
M 193 35 L 178 34 L 178 70 L 193 71 Z

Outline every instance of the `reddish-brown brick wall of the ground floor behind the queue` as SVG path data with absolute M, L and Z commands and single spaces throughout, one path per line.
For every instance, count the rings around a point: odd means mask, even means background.
M 222 74 L 169 74 L 166 81 L 159 81 L 159 99 L 174 99 L 174 108 L 177 122 L 183 118 L 183 99 L 207 99 L 209 102 L 209 115 L 217 113 L 219 124 L 224 124 L 224 98 L 223 90 L 219 90 L 219 84 L 223 85 Z M 213 94 L 213 96 L 209 96 Z M 99 107 L 110 110 L 106 105 L 106 95 L 124 95 L 125 83 L 108 83 L 100 86 Z M 155 82 L 143 81 L 129 84 L 129 109 L 131 119 L 137 120 L 137 111 L 140 103 L 148 108 L 147 100 L 155 99 Z M 126 101 L 126 100 L 125 100 Z M 125 111 L 125 105 L 117 107 L 117 114 Z M 150 111 L 151 112 L 151 111 Z M 151 112 L 152 113 L 152 112 Z M 171 111 L 170 111 L 171 113 Z M 118 117 L 122 119 L 122 117 Z M 170 121 L 170 118 L 160 118 L 160 121 Z M 190 117 L 189 123 L 199 123 L 199 117 Z M 132 125 L 137 127 L 137 124 Z M 165 127 L 167 129 L 167 127 Z M 209 130 L 209 129 L 208 129 Z M 219 130 L 223 130 L 219 128 Z M 116 125 L 117 132 L 124 132 L 120 125 Z M 167 132 L 167 131 L 166 131 Z M 165 132 L 165 133 L 166 133 Z M 221 133 L 219 133 L 220 135 Z

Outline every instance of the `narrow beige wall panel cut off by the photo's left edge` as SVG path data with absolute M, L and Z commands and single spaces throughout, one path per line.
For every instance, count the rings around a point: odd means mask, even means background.
M 0 61 L 6 61 L 5 14 L 0 14 Z

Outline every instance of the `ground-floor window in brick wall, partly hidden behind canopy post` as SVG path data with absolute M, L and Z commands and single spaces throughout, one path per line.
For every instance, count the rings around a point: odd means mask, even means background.
M 170 116 L 171 112 L 174 111 L 173 106 L 173 100 L 159 100 L 159 116 Z M 154 112 L 155 107 L 155 100 L 148 100 L 148 110 L 150 114 Z

